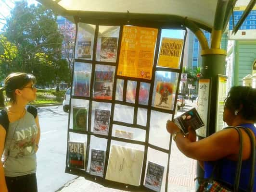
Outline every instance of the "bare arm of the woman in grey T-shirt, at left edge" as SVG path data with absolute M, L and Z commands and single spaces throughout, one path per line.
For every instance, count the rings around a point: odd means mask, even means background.
M 0 157 L 3 154 L 5 136 L 6 136 L 6 131 L 0 125 Z M 3 171 L 3 164 L 1 160 L 0 160 L 0 192 L 8 192 L 6 182 L 5 182 L 4 171 Z

